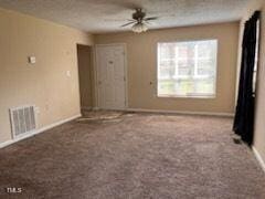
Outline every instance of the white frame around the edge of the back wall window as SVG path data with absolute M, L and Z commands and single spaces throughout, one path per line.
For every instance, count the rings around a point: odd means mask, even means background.
M 180 95 L 180 94 L 159 94 L 158 93 L 158 84 L 159 84 L 159 60 L 160 60 L 160 53 L 159 53 L 159 44 L 161 43 L 187 43 L 187 42 L 200 42 L 200 41 L 215 41 L 216 42 L 216 65 L 215 65 L 215 78 L 213 82 L 213 94 L 186 94 L 186 95 Z M 198 39 L 198 40 L 179 40 L 179 41 L 159 41 L 157 42 L 157 65 L 156 65 L 157 70 L 157 78 L 156 78 L 156 96 L 158 98 L 204 98 L 204 100 L 214 100 L 216 98 L 218 95 L 218 74 L 219 74 L 219 39 L 216 38 L 211 38 L 211 39 Z M 162 80 L 162 78 L 160 78 Z

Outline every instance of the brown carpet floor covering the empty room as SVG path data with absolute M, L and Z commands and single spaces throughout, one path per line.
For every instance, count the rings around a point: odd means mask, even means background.
M 106 118 L 76 119 L 0 149 L 0 198 L 265 198 L 265 174 L 233 140 L 231 118 Z

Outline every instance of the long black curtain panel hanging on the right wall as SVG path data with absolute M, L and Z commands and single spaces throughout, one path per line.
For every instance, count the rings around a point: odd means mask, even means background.
M 240 74 L 239 98 L 234 118 L 234 132 L 248 145 L 253 142 L 254 127 L 254 91 L 253 72 L 255 66 L 256 43 L 257 43 L 257 21 L 259 11 L 245 23 L 244 38 L 242 44 L 242 63 Z

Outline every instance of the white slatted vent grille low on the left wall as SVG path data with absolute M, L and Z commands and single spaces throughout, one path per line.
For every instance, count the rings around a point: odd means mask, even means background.
M 13 138 L 31 133 L 36 128 L 34 106 L 10 108 Z

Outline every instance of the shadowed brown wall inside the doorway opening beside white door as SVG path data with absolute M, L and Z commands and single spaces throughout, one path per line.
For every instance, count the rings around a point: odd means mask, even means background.
M 77 45 L 77 56 L 78 56 L 81 108 L 91 109 L 93 107 L 92 46 Z

